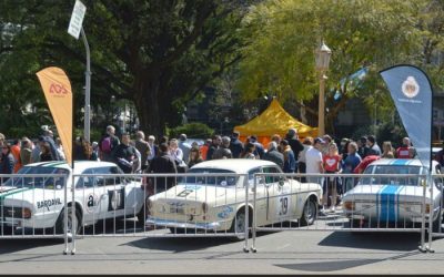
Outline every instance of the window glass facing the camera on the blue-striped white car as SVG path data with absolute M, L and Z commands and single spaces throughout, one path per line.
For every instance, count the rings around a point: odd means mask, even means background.
M 370 165 L 364 174 L 389 174 L 392 176 L 374 176 L 374 177 L 363 177 L 360 179 L 360 184 L 369 185 L 369 184 L 382 184 L 382 185 L 408 185 L 408 186 L 418 186 L 421 185 L 420 181 L 421 176 L 396 176 L 396 175 L 423 175 L 427 174 L 427 170 L 422 168 L 421 166 L 414 165 Z

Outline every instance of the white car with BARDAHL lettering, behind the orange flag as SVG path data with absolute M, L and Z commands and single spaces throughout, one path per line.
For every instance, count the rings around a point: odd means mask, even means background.
M 73 233 L 79 232 L 82 226 L 95 224 L 99 219 L 140 215 L 143 207 L 144 192 L 141 182 L 121 176 L 105 176 L 123 174 L 113 163 L 75 161 L 74 174 L 94 175 L 74 177 L 74 187 L 72 170 L 65 162 L 30 164 L 22 167 L 18 174 L 29 177 L 14 176 L 0 186 L 2 227 L 51 228 L 56 234 L 63 234 L 63 207 L 67 203 L 68 233 Z M 64 177 L 57 177 L 54 174 L 63 174 Z M 77 223 L 80 223 L 75 226 L 72 205 L 75 205 Z

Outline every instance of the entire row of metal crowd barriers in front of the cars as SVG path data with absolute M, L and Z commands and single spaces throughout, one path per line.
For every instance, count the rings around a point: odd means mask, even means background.
M 441 220 L 436 224 L 442 218 L 444 175 L 433 176 L 433 186 L 427 186 L 427 177 L 0 175 L 2 181 L 10 178 L 0 186 L 0 238 L 63 238 L 64 253 L 74 254 L 75 240 L 82 237 L 231 237 L 243 240 L 249 252 L 251 235 L 251 250 L 256 252 L 259 232 L 421 232 L 420 249 L 432 250 L 432 239 L 444 237 Z M 334 204 L 334 211 L 326 209 Z

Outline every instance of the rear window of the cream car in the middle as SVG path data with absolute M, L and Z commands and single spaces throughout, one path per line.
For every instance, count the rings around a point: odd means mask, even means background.
M 235 176 L 211 176 L 211 174 L 234 174 L 232 171 L 219 168 L 191 168 L 188 174 L 193 176 L 181 177 L 179 184 L 206 184 L 216 186 L 234 186 L 238 183 Z

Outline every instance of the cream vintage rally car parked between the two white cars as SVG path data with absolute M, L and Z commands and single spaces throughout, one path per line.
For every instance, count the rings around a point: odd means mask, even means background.
M 258 175 L 254 189 L 254 174 L 258 173 L 275 175 Z M 316 218 L 322 187 L 314 183 L 279 177 L 282 171 L 272 162 L 214 160 L 194 165 L 188 174 L 190 176 L 179 181 L 176 186 L 150 196 L 147 203 L 148 226 L 169 227 L 171 232 L 229 232 L 242 238 L 245 232 L 246 184 L 250 225 L 254 193 L 256 226 L 293 219 L 297 219 L 301 225 L 311 225 Z

